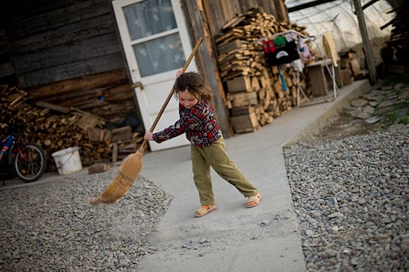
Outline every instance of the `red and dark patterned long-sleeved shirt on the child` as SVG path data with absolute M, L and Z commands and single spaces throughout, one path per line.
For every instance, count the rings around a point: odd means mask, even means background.
M 221 137 L 221 131 L 214 119 L 214 111 L 208 103 L 199 102 L 190 109 L 179 103 L 179 117 L 181 119 L 174 125 L 154 133 L 154 141 L 161 143 L 185 133 L 193 145 L 207 146 Z

